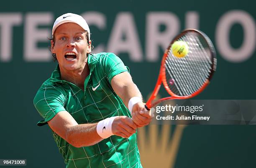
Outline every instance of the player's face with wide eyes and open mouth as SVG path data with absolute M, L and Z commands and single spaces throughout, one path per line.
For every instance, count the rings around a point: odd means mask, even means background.
M 86 31 L 76 23 L 64 23 L 54 32 L 55 44 L 51 41 L 52 53 L 56 54 L 61 70 L 82 70 L 86 64 L 87 53 L 91 52 L 87 44 Z

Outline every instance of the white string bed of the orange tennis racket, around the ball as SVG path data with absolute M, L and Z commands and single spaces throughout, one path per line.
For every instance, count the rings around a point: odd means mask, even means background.
M 186 96 L 199 90 L 208 79 L 212 61 L 207 41 L 196 33 L 187 33 L 179 40 L 189 46 L 184 58 L 177 58 L 170 49 L 165 60 L 166 83 L 179 96 Z

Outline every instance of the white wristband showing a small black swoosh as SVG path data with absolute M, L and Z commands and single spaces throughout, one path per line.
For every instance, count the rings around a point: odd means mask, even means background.
M 101 120 L 97 124 L 97 133 L 100 135 L 101 138 L 106 139 L 111 135 L 114 135 L 112 132 L 112 123 L 113 120 L 117 117 L 118 116 L 106 118 L 105 120 Z

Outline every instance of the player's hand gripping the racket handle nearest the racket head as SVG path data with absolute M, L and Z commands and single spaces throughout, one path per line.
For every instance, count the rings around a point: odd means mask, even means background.
M 145 103 L 139 102 L 133 105 L 133 122 L 139 127 L 148 125 L 152 120 L 151 112 L 145 108 Z

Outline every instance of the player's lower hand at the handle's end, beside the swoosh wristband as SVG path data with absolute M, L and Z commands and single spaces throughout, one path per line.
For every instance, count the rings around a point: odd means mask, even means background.
M 129 138 L 136 133 L 137 125 L 127 116 L 119 116 L 113 120 L 112 132 L 123 138 Z

